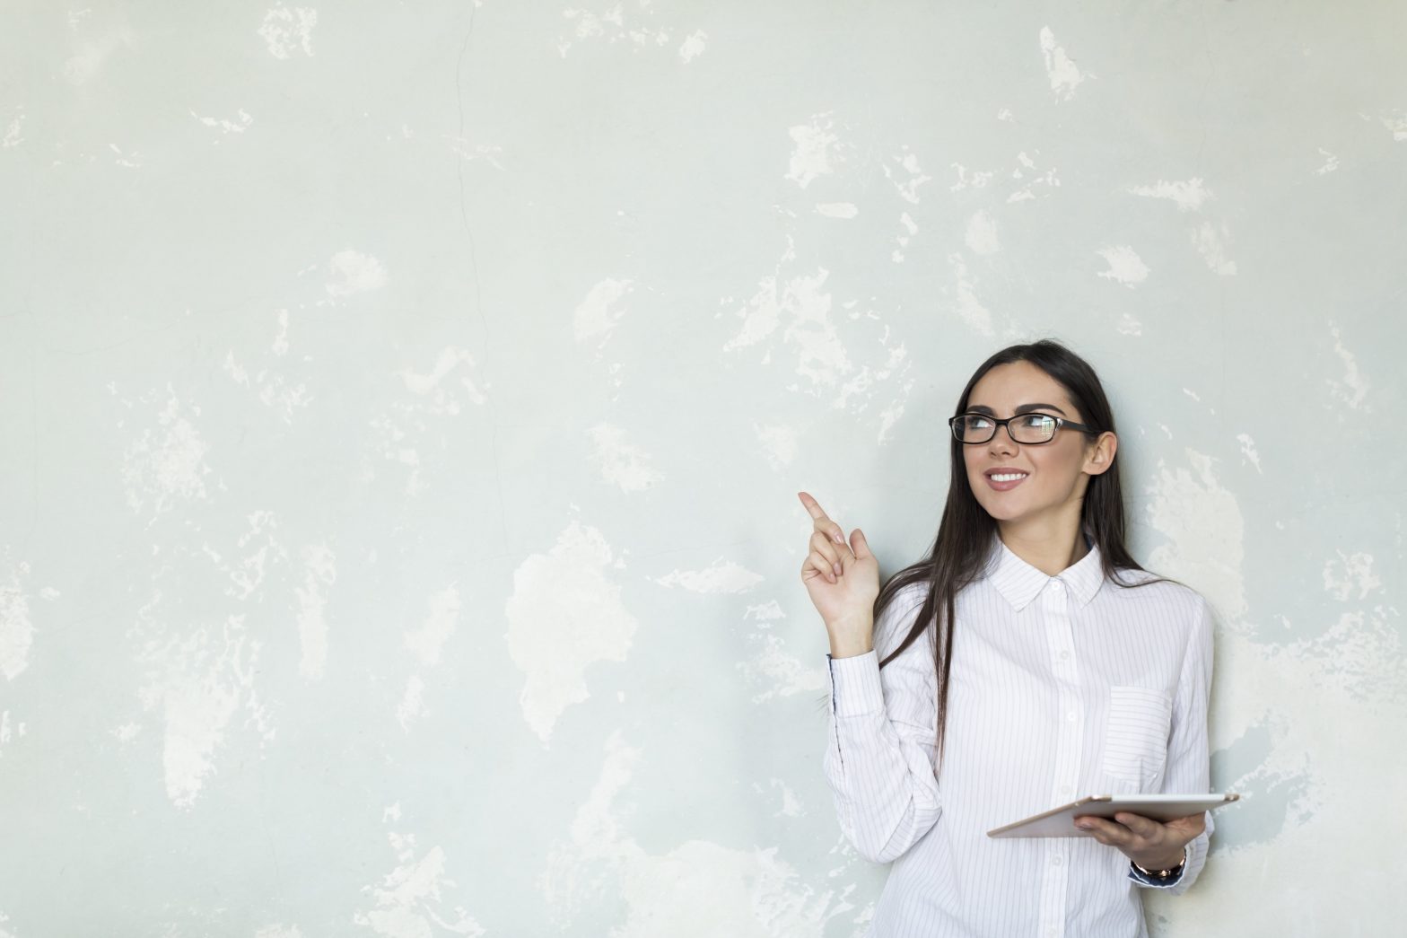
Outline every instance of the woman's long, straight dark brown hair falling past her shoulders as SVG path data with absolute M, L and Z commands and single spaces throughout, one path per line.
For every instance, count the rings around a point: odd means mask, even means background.
M 1103 384 L 1100 384 L 1099 376 L 1095 375 L 1095 369 L 1079 355 L 1075 355 L 1054 339 L 1041 339 L 1029 345 L 1009 345 L 982 362 L 981 368 L 968 379 L 967 387 L 962 389 L 962 394 L 958 397 L 953 413 L 961 414 L 967 410 L 972 387 L 976 386 L 983 375 L 998 365 L 1009 365 L 1012 362 L 1030 362 L 1059 383 L 1065 389 L 1065 393 L 1069 394 L 1071 403 L 1079 411 L 1074 420 L 1093 428 L 1090 438 L 1104 431 L 1117 432 L 1114 431 L 1114 414 L 1109 407 L 1109 399 L 1104 396 Z M 951 434 L 948 434 L 948 441 L 951 444 L 951 473 L 948 479 L 948 500 L 943 507 L 943 520 L 938 523 L 938 537 L 922 561 L 903 568 L 885 582 L 874 604 L 874 621 L 878 623 L 879 614 L 903 587 L 913 583 L 927 584 L 927 596 L 913 627 L 905 639 L 899 642 L 898 648 L 879 662 L 881 668 L 893 661 L 899 652 L 915 642 L 934 623 L 936 610 L 944 610 L 944 615 L 937 621 L 936 628 L 936 634 L 940 638 L 938 641 L 930 639 L 934 676 L 938 682 L 938 732 L 936 742 L 940 756 L 943 752 L 943 731 L 948 715 L 948 672 L 953 665 L 951 652 L 955 618 L 954 600 L 964 586 L 972 583 L 983 573 L 981 569 L 982 561 L 986 558 L 992 538 L 996 537 L 996 520 L 978 503 L 976 496 L 972 494 L 972 487 L 968 484 L 967 463 L 962 458 L 964 444 Z M 1109 469 L 1097 476 L 1090 476 L 1089 484 L 1085 489 L 1081 517 L 1083 530 L 1089 532 L 1090 539 L 1099 546 L 1100 566 L 1103 568 L 1106 580 L 1124 589 L 1159 582 L 1176 582 L 1169 580 L 1169 577 L 1155 577 L 1141 583 L 1124 583 L 1117 576 L 1116 570 L 1119 569 L 1144 570 L 1124 546 L 1124 497 L 1119 483 L 1117 449 Z

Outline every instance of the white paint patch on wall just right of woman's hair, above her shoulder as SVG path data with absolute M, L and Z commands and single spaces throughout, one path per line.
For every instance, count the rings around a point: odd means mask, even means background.
M 1228 625 L 1244 627 L 1245 524 L 1241 506 L 1217 482 L 1211 456 L 1190 448 L 1183 454 L 1190 470 L 1168 469 L 1159 459 L 1158 473 L 1145 489 L 1148 524 L 1168 538 L 1150 552 L 1145 566 L 1196 583 L 1197 592 L 1228 617 Z

